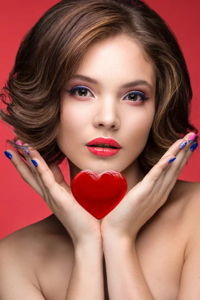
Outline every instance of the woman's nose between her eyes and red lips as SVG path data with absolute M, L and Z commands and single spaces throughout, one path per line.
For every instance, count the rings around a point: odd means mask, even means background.
M 118 109 L 115 100 L 99 100 L 93 118 L 94 127 L 105 127 L 116 130 L 120 126 Z

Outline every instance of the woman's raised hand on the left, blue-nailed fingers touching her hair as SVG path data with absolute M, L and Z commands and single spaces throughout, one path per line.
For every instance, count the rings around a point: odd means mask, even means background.
M 20 142 L 20 144 L 23 143 Z M 27 144 L 24 143 L 23 146 Z M 29 150 L 29 154 L 21 150 L 29 166 L 18 153 L 10 149 L 7 151 L 12 155 L 11 162 L 23 180 L 44 199 L 50 210 L 66 228 L 74 247 L 88 243 L 102 245 L 100 220 L 92 216 L 75 200 L 58 165 L 52 163 L 48 167 L 37 150 Z M 31 159 L 36 161 L 37 167 L 33 165 Z

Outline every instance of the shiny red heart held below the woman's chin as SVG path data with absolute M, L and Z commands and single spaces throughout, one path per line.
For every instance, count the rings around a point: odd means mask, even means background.
M 100 174 L 82 170 L 71 181 L 71 192 L 75 200 L 97 219 L 114 209 L 126 190 L 125 177 L 115 170 L 107 170 Z

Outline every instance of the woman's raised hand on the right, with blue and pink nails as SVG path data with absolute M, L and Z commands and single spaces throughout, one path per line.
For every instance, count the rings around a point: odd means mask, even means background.
M 102 240 L 122 238 L 135 241 L 141 226 L 167 200 L 177 177 L 192 154 L 191 144 L 188 142 L 191 135 L 189 132 L 184 138 L 176 140 L 145 177 L 103 218 L 100 225 Z M 185 141 L 186 145 L 180 149 L 179 146 Z M 168 163 L 174 156 L 176 159 Z

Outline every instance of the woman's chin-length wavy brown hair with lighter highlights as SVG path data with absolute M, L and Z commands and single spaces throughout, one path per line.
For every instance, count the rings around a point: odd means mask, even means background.
M 143 172 L 177 139 L 198 133 L 189 121 L 192 89 L 183 53 L 172 29 L 152 8 L 141 0 L 62 0 L 24 35 L 1 89 L 8 113 L 1 109 L 0 118 L 16 134 L 6 142 L 21 157 L 17 138 L 37 149 L 48 165 L 64 160 L 56 143 L 63 88 L 88 47 L 118 34 L 127 34 L 140 46 L 156 75 L 154 120 L 138 156 Z

